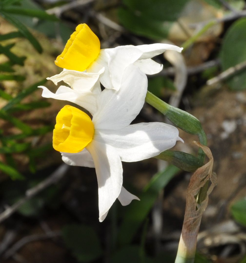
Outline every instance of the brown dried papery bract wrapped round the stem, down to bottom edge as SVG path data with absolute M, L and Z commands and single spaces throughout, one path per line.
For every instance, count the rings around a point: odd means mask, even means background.
M 208 205 L 208 195 L 217 183 L 217 176 L 212 171 L 214 159 L 210 149 L 200 143 L 193 141 L 195 145 L 203 149 L 208 156 L 209 161 L 205 165 L 198 168 L 190 178 L 186 194 L 186 207 L 184 215 L 184 223 L 179 240 L 179 248 L 175 263 L 194 262 L 196 251 L 196 240 L 201 223 L 201 217 Z M 196 196 L 199 190 L 209 181 L 209 188 L 205 199 L 198 204 Z

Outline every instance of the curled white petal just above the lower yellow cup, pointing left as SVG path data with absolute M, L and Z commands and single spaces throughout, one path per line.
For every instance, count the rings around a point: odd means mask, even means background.
M 69 87 L 61 85 L 56 93 L 51 92 L 44 86 L 39 86 L 38 88 L 43 89 L 42 96 L 44 98 L 53 98 L 58 100 L 67 100 L 69 102 L 75 103 L 86 110 L 88 110 L 91 114 L 96 112 L 96 95 L 91 91 L 81 92 L 73 90 Z

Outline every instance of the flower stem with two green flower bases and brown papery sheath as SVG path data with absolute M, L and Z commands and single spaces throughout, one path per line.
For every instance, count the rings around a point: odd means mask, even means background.
M 188 186 L 184 223 L 175 260 L 175 263 L 193 263 L 201 216 L 208 204 L 208 195 L 216 184 L 216 176 L 212 173 L 213 156 L 209 148 L 204 146 L 207 144 L 206 134 L 197 118 L 163 102 L 150 92 L 147 92 L 145 101 L 163 113 L 178 128 L 197 135 L 200 141 L 200 143 L 194 142 L 199 146 L 197 158 L 190 154 L 170 150 L 155 157 L 170 161 L 185 171 L 195 171 Z M 205 155 L 208 156 L 209 162 L 203 165 Z

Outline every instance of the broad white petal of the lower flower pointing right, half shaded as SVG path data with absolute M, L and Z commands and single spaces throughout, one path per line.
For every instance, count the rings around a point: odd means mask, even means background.
M 94 138 L 112 145 L 126 162 L 154 157 L 182 140 L 176 127 L 160 122 L 132 124 L 114 131 L 97 130 Z

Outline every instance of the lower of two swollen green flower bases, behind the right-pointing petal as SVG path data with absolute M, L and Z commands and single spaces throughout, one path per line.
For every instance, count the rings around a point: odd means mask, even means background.
M 202 166 L 201 161 L 197 157 L 189 153 L 184 153 L 183 151 L 166 150 L 155 156 L 155 158 L 168 161 L 179 169 L 187 172 L 194 172 L 197 168 Z

